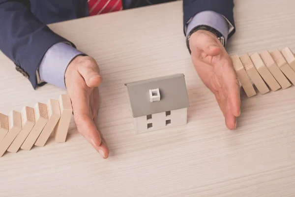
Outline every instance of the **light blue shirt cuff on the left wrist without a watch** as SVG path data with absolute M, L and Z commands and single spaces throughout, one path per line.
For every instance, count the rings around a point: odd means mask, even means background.
M 39 65 L 38 84 L 46 82 L 65 89 L 65 70 L 69 63 L 79 55 L 85 54 L 64 42 L 59 42 L 50 47 Z

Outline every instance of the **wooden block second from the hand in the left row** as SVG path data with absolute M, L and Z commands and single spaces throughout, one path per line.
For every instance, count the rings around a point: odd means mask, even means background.
M 35 142 L 36 146 L 44 146 L 50 134 L 58 124 L 60 118 L 59 100 L 50 99 L 47 103 L 47 110 L 48 122 Z

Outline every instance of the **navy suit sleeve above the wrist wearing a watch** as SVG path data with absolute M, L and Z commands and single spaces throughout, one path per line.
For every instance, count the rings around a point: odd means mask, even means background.
M 183 32 L 186 34 L 186 27 L 190 20 L 203 11 L 214 11 L 224 16 L 234 30 L 228 35 L 230 38 L 236 31 L 234 21 L 234 0 L 183 0 Z

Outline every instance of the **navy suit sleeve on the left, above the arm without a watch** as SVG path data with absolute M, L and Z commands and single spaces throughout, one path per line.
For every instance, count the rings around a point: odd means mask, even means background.
M 28 0 L 0 0 L 0 27 L 0 50 L 35 89 L 36 70 L 46 51 L 58 42 L 69 41 L 36 18 Z

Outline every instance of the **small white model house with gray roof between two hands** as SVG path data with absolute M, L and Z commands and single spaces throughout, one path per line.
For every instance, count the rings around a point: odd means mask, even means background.
M 184 74 L 125 84 L 137 133 L 187 123 L 189 100 Z

